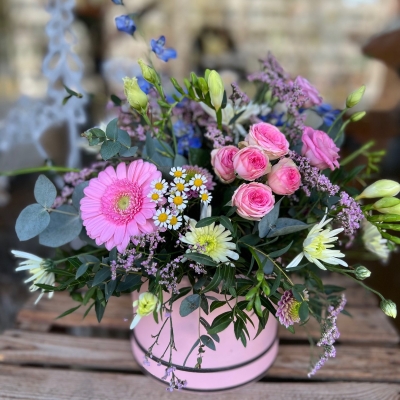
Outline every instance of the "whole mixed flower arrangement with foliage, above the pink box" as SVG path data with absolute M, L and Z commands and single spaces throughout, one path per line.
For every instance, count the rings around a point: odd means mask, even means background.
M 116 22 L 135 31 L 129 16 Z M 175 58 L 164 45 L 164 37 L 151 41 L 157 57 Z M 37 203 L 21 212 L 16 231 L 20 240 L 39 235 L 42 245 L 60 249 L 52 260 L 13 251 L 26 259 L 17 270 L 31 274 L 26 282 L 40 291 L 37 301 L 68 291 L 79 304 L 63 315 L 94 307 L 100 322 L 111 296 L 134 291 L 140 295 L 131 329 L 142 318 L 165 321 L 195 310 L 215 315 L 211 324 L 199 319 L 206 334 L 196 342 L 196 368 L 212 356 L 203 355 L 206 348 L 218 351 L 215 338 L 225 329 L 234 329 L 246 346 L 253 339 L 246 328 L 250 314 L 258 331 L 268 318 L 293 333 L 316 319 L 323 351 L 313 375 L 335 356 L 336 319 L 346 303 L 342 288 L 324 287 L 321 270 L 370 289 L 362 282 L 370 271 L 349 265 L 345 250 L 360 238 L 385 261 L 400 243 L 387 232 L 399 230 L 400 184 L 365 183 L 382 152 L 370 151 L 368 143 L 344 159 L 340 154 L 348 123 L 342 117 L 364 87 L 339 111 L 323 104 L 305 78 L 292 80 L 271 54 L 248 77 L 257 89 L 252 100 L 237 84 L 227 93 L 215 70 L 192 73 L 183 85 L 171 78 L 175 91 L 166 94 L 153 66 L 139 65 L 141 77 L 124 79 L 125 98 L 112 96 L 118 117 L 83 133 L 102 161 L 64 174 L 58 196 L 51 180 L 39 176 Z M 347 170 L 359 156 L 367 167 Z M 225 300 L 210 296 L 215 292 Z M 396 317 L 395 304 L 377 294 L 382 310 Z M 230 311 L 221 316 L 225 303 Z M 173 335 L 172 324 L 164 326 Z M 168 390 L 186 385 L 174 368 L 170 358 Z

